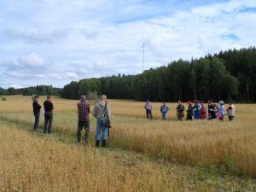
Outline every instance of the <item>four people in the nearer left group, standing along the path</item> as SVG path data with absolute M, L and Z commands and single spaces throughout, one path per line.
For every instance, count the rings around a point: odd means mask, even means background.
M 51 133 L 51 125 L 53 120 L 53 109 L 54 105 L 51 102 L 52 96 L 47 96 L 46 101 L 44 102 L 44 133 Z M 32 102 L 33 113 L 35 116 L 34 128 L 33 131 L 38 130 L 38 123 L 40 117 L 40 109 L 39 105 L 39 96 L 35 96 L 34 101 Z M 86 99 L 86 96 L 80 97 L 80 102 L 77 104 L 78 115 L 79 115 L 79 123 L 78 123 L 78 131 L 77 131 L 77 139 L 78 143 L 81 142 L 81 131 L 85 131 L 84 141 L 85 143 L 89 143 L 90 137 L 90 104 Z M 105 125 L 105 121 L 111 119 L 110 107 L 107 102 L 107 96 L 102 95 L 101 101 L 97 102 L 92 115 L 97 119 L 96 120 L 96 147 L 100 146 L 100 141 L 102 140 L 102 148 L 106 148 L 107 139 L 108 139 L 108 126 Z

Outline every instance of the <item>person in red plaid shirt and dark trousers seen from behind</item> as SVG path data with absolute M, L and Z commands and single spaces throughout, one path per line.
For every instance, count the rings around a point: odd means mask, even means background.
M 87 102 L 86 96 L 80 97 L 80 102 L 77 104 L 79 111 L 79 127 L 77 132 L 78 143 L 81 142 L 81 131 L 84 128 L 85 131 L 85 143 L 89 142 L 90 136 L 90 121 L 89 121 L 89 113 L 90 113 L 90 104 Z

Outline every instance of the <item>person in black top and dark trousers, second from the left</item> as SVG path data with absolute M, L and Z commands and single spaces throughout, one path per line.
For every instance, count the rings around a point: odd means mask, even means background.
M 44 102 L 44 133 L 45 134 L 46 134 L 46 130 L 48 133 L 51 132 L 51 124 L 53 119 L 52 110 L 55 108 L 53 103 L 51 102 L 51 99 L 52 99 L 52 96 L 47 96 L 47 99 Z

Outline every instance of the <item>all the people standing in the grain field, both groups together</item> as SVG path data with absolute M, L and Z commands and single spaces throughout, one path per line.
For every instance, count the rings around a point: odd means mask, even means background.
M 52 103 L 52 96 L 47 96 L 44 101 L 44 134 L 51 133 L 51 125 L 53 121 L 53 109 L 55 108 Z M 33 113 L 35 117 L 33 131 L 38 130 L 38 123 L 40 118 L 40 110 L 41 106 L 38 103 L 39 96 L 35 96 L 34 101 L 32 102 Z M 187 120 L 194 119 L 224 119 L 224 115 L 228 114 L 229 120 L 232 121 L 235 118 L 235 106 L 232 102 L 230 102 L 229 108 L 225 110 L 224 102 L 220 101 L 218 103 L 213 103 L 212 101 L 208 101 L 208 106 L 206 107 L 204 102 L 198 102 L 194 100 L 194 106 L 192 106 L 192 102 L 188 102 L 188 107 L 184 107 L 181 101 L 177 102 L 177 119 L 183 120 L 185 116 L 185 112 L 187 112 Z M 78 114 L 79 114 L 79 123 L 78 123 L 78 131 L 77 131 L 77 140 L 78 143 L 81 142 L 81 131 L 85 131 L 84 141 L 85 143 L 89 143 L 90 137 L 90 104 L 86 99 L 86 96 L 80 97 L 80 102 L 77 104 Z M 152 103 L 147 100 L 144 108 L 146 109 L 147 119 L 153 119 L 152 116 Z M 207 115 L 208 108 L 208 115 Z M 160 107 L 160 113 L 162 114 L 162 119 L 167 119 L 167 113 L 169 111 L 169 107 L 166 105 L 166 102 L 163 102 L 163 105 Z M 107 96 L 102 95 L 101 101 L 97 102 L 92 115 L 96 118 L 96 148 L 100 146 L 100 142 L 102 141 L 102 147 L 106 148 L 106 143 L 108 139 L 108 131 L 109 127 L 106 125 L 106 121 L 111 119 L 110 107 L 107 102 Z

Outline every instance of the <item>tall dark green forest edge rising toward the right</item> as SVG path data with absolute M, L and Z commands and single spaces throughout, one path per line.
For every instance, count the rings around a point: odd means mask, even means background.
M 256 101 L 256 49 L 233 49 L 192 61 L 173 61 L 137 75 L 82 79 L 64 86 L 61 96 L 106 94 L 112 99 L 154 102 Z

